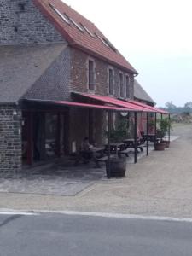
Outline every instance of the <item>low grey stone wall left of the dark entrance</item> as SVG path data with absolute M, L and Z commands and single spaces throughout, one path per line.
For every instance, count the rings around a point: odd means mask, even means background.
M 21 112 L 13 106 L 0 106 L 0 172 L 21 169 Z

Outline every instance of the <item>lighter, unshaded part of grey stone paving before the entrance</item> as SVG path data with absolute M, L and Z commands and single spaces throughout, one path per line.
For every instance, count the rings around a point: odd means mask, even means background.
M 0 178 L 0 192 L 41 195 L 77 195 L 105 177 L 104 168 L 50 168 L 44 174 L 38 171 Z

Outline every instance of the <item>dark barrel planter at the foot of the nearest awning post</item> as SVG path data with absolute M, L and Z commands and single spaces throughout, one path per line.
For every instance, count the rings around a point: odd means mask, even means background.
M 106 161 L 107 177 L 125 177 L 126 172 L 126 158 L 113 158 L 110 160 L 110 173 L 108 170 L 108 160 Z

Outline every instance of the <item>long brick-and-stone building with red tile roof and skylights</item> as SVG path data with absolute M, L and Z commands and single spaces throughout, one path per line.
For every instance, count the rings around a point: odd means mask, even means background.
M 0 172 L 103 143 L 106 112 L 63 101 L 134 99 L 137 71 L 60 0 L 2 0 L 0 58 Z

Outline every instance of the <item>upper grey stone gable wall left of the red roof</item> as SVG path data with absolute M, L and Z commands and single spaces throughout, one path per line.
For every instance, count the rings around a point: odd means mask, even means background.
M 0 1 L 0 45 L 63 41 L 32 0 Z

